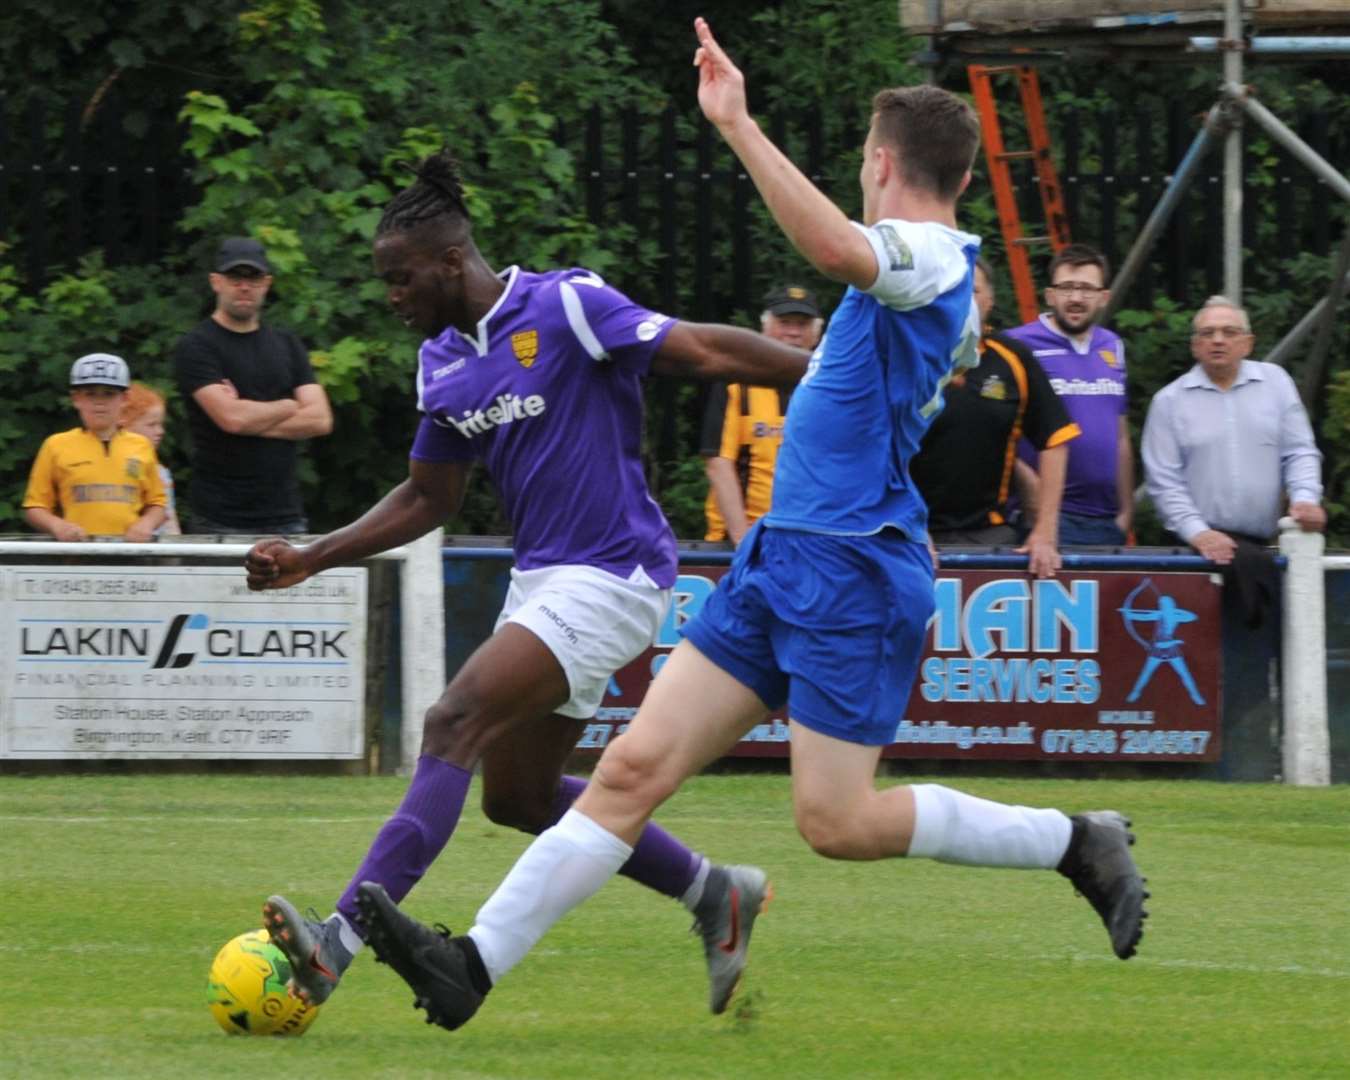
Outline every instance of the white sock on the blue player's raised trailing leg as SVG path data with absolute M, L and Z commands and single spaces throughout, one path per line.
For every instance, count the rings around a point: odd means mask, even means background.
M 911 791 L 911 859 L 1054 869 L 1073 836 L 1073 824 L 1058 810 L 1007 806 L 941 784 L 914 784 Z

